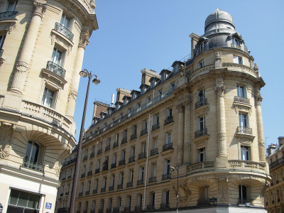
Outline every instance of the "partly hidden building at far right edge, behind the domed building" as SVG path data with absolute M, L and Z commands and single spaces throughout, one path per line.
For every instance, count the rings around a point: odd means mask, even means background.
M 264 194 L 264 204 L 268 213 L 284 212 L 284 137 L 278 138 L 278 144 L 268 146 L 266 158 L 271 174 L 270 187 Z

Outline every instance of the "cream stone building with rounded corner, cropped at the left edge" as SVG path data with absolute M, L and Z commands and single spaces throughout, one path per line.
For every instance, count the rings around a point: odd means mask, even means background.
M 0 1 L 0 203 L 54 212 L 84 50 L 97 29 L 92 1 Z

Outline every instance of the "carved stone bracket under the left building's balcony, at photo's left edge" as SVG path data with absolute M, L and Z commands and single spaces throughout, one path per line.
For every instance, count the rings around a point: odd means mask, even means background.
M 0 160 L 9 156 L 11 149 L 11 139 L 15 125 L 6 122 L 0 123 Z

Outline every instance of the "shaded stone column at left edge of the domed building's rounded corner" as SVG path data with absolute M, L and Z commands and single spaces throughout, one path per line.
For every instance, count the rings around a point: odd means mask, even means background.
M 190 143 L 190 101 L 185 102 L 185 146 L 183 148 L 183 163 L 191 163 L 191 143 Z

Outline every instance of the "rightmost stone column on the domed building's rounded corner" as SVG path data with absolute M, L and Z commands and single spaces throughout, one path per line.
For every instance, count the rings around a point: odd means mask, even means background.
M 255 88 L 255 91 L 257 91 L 255 95 L 255 101 L 256 101 L 256 123 L 258 127 L 259 160 L 266 161 L 266 149 L 264 143 L 263 122 L 262 122 L 262 113 L 261 113 L 262 97 L 261 97 L 260 88 Z

